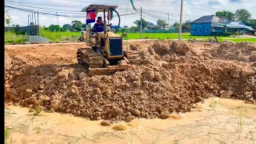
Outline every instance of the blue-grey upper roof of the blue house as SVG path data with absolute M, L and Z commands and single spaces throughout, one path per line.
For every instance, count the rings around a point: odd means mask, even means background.
M 224 18 L 218 18 L 215 15 L 205 15 L 205 16 L 202 16 L 201 18 L 198 18 L 198 19 L 194 20 L 191 23 L 206 23 L 206 22 L 210 22 L 210 23 L 212 23 L 212 22 L 225 23 L 226 20 Z

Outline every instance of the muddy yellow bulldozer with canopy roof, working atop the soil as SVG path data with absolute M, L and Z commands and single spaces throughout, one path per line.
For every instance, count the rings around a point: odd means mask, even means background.
M 81 10 L 88 13 L 86 20 L 95 18 L 98 13 L 103 13 L 104 31 L 97 33 L 86 25 L 85 41 L 86 46 L 90 46 L 90 48 L 79 48 L 77 51 L 78 64 L 84 66 L 88 74 L 97 74 L 102 71 L 114 72 L 131 67 L 127 58 L 128 48 L 125 51 L 122 46 L 122 40 L 126 34 L 122 36 L 116 34 L 118 28 L 114 32 L 111 30 L 110 10 L 118 15 L 118 27 L 120 26 L 120 16 L 115 10 L 116 8 L 118 6 L 92 4 Z M 94 13 L 89 14 L 90 11 L 94 11 Z M 106 12 L 108 12 L 108 24 L 106 24 Z

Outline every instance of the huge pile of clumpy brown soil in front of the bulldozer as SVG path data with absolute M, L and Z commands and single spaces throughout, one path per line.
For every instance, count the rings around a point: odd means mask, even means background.
M 21 106 L 111 122 L 168 118 L 214 96 L 256 102 L 256 70 L 248 63 L 208 58 L 186 42 L 134 47 L 138 56 L 130 62 L 137 68 L 92 77 L 77 65 L 35 66 L 6 55 L 5 97 Z

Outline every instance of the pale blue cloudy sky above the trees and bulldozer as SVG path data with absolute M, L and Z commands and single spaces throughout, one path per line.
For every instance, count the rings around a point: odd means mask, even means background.
M 140 8 L 142 6 L 142 18 L 147 22 L 157 24 L 158 19 L 164 19 L 169 24 L 179 22 L 181 0 L 134 0 L 134 6 L 128 5 L 129 0 L 5 0 L 6 6 L 21 8 L 22 10 L 38 10 L 38 20 L 40 26 L 50 26 L 51 24 L 63 26 L 71 24 L 72 21 L 78 20 L 86 23 L 86 13 L 80 12 L 82 8 L 89 6 L 91 3 L 112 4 L 118 6 L 118 13 L 121 16 L 120 26 L 136 26 L 134 21 L 140 18 Z M 194 21 L 204 15 L 215 14 L 218 10 L 229 10 L 235 12 L 238 9 L 249 10 L 252 18 L 256 18 L 256 0 L 184 0 L 182 10 L 182 22 L 186 20 Z M 14 10 L 8 7 L 10 11 L 11 24 L 27 26 L 28 14 L 31 12 Z M 40 14 L 44 10 L 47 13 L 67 14 L 68 17 Z M 128 15 L 126 15 L 128 14 Z M 79 15 L 82 18 L 72 18 Z M 102 14 L 99 14 L 102 16 Z M 118 25 L 118 17 L 114 14 L 111 21 L 113 25 Z

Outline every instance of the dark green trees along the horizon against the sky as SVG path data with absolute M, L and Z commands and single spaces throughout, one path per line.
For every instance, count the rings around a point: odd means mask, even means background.
M 256 29 L 256 19 L 251 18 L 252 14 L 246 9 L 238 9 L 234 13 L 226 10 L 217 11 L 216 16 L 220 18 L 228 18 L 230 21 L 242 21 L 246 24 L 246 26 L 252 26 Z M 9 26 L 11 23 L 11 16 L 8 10 L 5 10 L 5 22 Z M 190 22 L 191 20 L 186 20 L 186 22 L 182 22 L 182 30 L 190 31 Z M 134 22 L 136 26 L 131 26 L 130 32 L 139 32 L 141 26 L 141 20 L 136 20 Z M 30 25 L 34 25 L 33 23 Z M 158 19 L 157 25 L 150 26 L 149 22 L 146 22 L 145 19 L 142 18 L 142 30 L 165 30 L 167 26 L 167 22 L 162 19 Z M 13 25 L 18 27 L 18 25 Z M 90 25 L 89 25 L 90 27 Z M 51 32 L 58 31 L 82 31 L 86 28 L 86 24 L 80 21 L 74 20 L 71 24 L 65 24 L 63 26 L 58 25 L 50 25 L 48 27 L 43 26 L 44 30 L 49 30 Z M 121 28 L 121 27 L 120 27 Z M 171 26 L 172 30 L 179 30 L 179 22 L 174 22 Z M 126 28 L 119 29 L 119 32 L 125 32 Z

